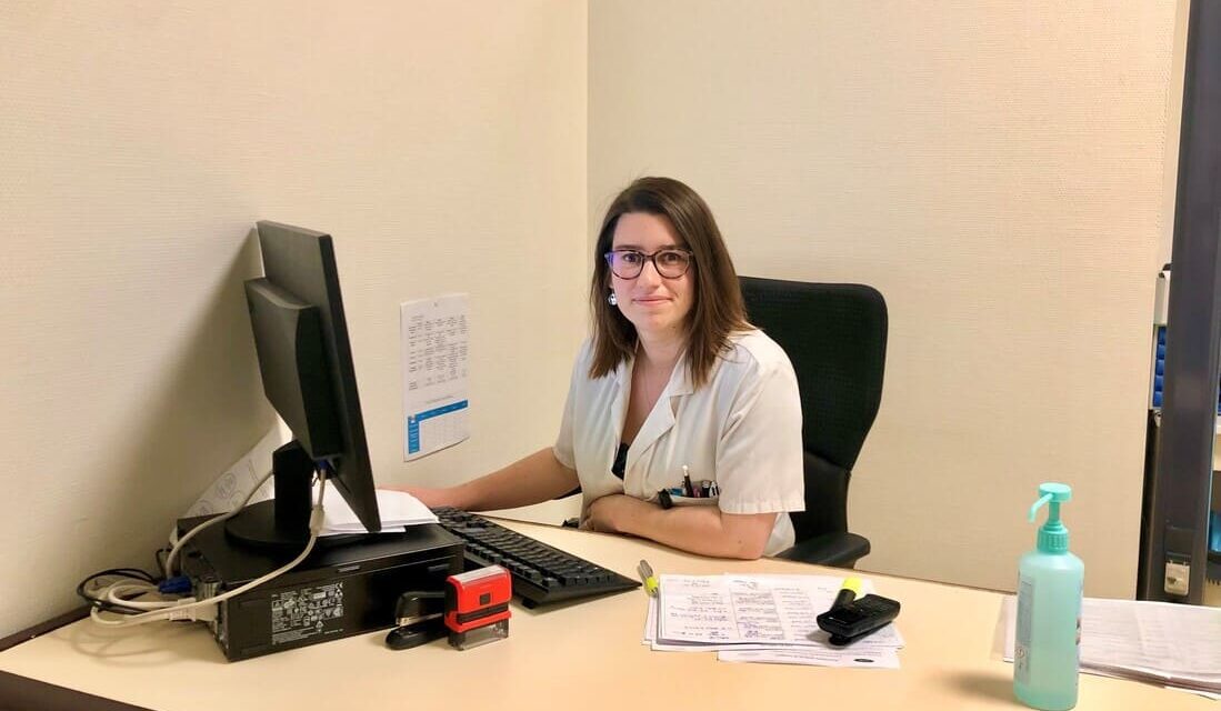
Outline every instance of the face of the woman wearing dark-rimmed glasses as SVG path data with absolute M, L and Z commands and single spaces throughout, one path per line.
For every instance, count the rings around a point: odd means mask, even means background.
M 647 213 L 625 213 L 615 224 L 610 249 L 614 252 L 634 249 L 652 255 L 664 249 L 684 249 L 670 227 L 670 221 Z M 675 255 L 663 254 L 657 259 L 667 259 L 663 270 L 675 270 Z M 621 271 L 621 269 L 620 269 Z M 657 271 L 657 264 L 646 259 L 635 279 L 623 279 L 610 271 L 610 288 L 619 301 L 619 310 L 645 340 L 681 336 L 685 331 L 686 315 L 695 304 L 695 261 L 686 272 L 676 277 L 665 277 Z

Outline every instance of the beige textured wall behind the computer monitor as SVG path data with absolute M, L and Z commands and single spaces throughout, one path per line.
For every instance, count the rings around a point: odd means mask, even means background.
M 586 15 L 0 6 L 0 636 L 88 572 L 150 567 L 270 425 L 241 286 L 255 220 L 336 237 L 379 481 L 554 436 L 584 335 Z M 473 436 L 404 464 L 398 303 L 448 291 L 470 294 Z

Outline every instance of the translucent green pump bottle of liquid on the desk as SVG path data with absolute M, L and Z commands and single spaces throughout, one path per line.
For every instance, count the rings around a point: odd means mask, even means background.
M 1072 489 L 1063 484 L 1039 485 L 1029 519 L 1046 503 L 1048 520 L 1039 528 L 1035 549 L 1018 564 L 1013 693 L 1044 711 L 1077 705 L 1085 564 L 1068 552 L 1068 529 L 1060 522 L 1060 505 L 1070 498 Z

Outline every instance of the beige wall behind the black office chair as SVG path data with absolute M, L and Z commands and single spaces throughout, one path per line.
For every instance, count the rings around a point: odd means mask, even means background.
M 591 2 L 591 224 L 672 175 L 741 274 L 889 302 L 863 568 L 1012 589 L 1059 479 L 1087 592 L 1134 592 L 1175 38 L 1173 1 Z

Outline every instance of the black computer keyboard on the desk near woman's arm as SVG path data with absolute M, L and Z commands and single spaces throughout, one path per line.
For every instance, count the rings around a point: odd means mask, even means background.
M 640 588 L 640 583 L 573 553 L 457 508 L 433 508 L 441 525 L 466 544 L 468 568 L 503 566 L 526 607 Z

